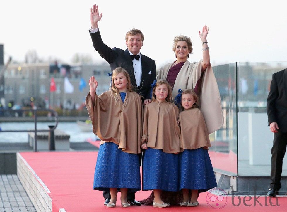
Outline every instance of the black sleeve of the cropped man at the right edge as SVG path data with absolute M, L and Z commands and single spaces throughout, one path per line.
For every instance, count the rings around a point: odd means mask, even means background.
M 274 74 L 270 83 L 270 92 L 267 97 L 267 116 L 268 125 L 272 122 L 276 122 L 276 99 L 278 97 L 278 86 Z

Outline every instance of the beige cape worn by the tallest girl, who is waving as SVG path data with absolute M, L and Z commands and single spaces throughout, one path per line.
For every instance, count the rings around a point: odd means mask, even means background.
M 123 103 L 119 94 L 116 102 L 113 92 L 106 91 L 95 95 L 94 107 L 88 93 L 86 107 L 100 144 L 113 142 L 123 152 L 141 153 L 142 101 L 136 92 L 127 91 Z

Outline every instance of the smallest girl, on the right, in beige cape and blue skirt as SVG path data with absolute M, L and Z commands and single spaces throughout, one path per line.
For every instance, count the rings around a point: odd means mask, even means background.
M 198 97 L 194 90 L 182 90 L 181 105 L 184 110 L 178 116 L 182 149 L 179 154 L 179 190 L 182 189 L 183 193 L 183 202 L 180 206 L 198 206 L 197 193 L 217 187 L 207 152 L 211 144 L 203 115 L 197 108 Z

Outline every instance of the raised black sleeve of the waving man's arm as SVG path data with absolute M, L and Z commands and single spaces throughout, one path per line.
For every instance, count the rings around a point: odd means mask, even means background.
M 95 50 L 98 51 L 100 56 L 104 58 L 109 64 L 113 63 L 115 58 L 117 58 L 117 53 L 102 41 L 100 30 L 95 33 L 90 32 L 90 36 L 92 38 L 93 46 Z

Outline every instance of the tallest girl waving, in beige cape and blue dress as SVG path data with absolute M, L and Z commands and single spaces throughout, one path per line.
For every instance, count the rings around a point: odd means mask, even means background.
M 122 206 L 130 207 L 127 191 L 141 190 L 138 154 L 141 153 L 142 101 L 133 92 L 129 74 L 123 68 L 113 70 L 111 83 L 110 90 L 98 96 L 98 82 L 91 77 L 86 97 L 93 132 L 101 139 L 93 189 L 110 190 L 107 207 L 116 206 L 117 191 L 121 191 Z

